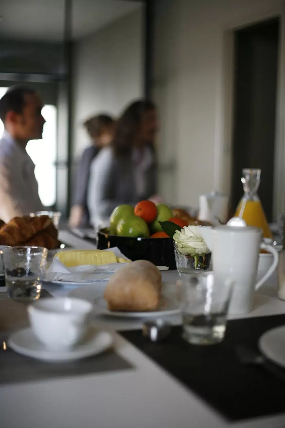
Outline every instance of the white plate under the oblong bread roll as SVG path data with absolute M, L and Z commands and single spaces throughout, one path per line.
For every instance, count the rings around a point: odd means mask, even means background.
M 162 317 L 165 315 L 174 315 L 180 312 L 178 304 L 175 303 L 175 285 L 162 283 L 162 303 L 163 306 L 157 311 L 146 312 L 115 312 L 107 309 L 107 303 L 103 297 L 106 282 L 97 282 L 89 286 L 83 286 L 68 293 L 68 297 L 77 297 L 85 299 L 94 304 L 95 312 L 99 315 L 121 318 L 149 318 Z

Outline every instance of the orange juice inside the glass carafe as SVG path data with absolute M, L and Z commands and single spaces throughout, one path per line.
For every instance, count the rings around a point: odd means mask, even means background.
M 241 199 L 238 204 L 235 217 L 240 214 L 240 208 L 245 204 L 241 218 L 246 222 L 247 226 L 254 226 L 262 229 L 264 238 L 272 238 L 272 233 L 269 229 L 263 208 L 260 200 L 245 200 Z

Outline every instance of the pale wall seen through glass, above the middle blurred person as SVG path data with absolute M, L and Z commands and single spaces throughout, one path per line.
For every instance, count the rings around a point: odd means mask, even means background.
M 74 53 L 74 157 L 88 145 L 82 128 L 97 113 L 118 113 L 143 95 L 143 9 L 77 42 Z

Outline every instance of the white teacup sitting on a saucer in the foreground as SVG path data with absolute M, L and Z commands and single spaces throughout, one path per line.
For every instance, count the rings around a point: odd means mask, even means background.
M 28 306 L 33 333 L 47 348 L 74 346 L 86 334 L 92 303 L 68 297 L 44 298 Z

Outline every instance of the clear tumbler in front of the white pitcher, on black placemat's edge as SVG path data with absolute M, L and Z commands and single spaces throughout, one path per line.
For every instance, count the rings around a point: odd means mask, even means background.
M 194 345 L 222 342 L 234 282 L 219 281 L 213 272 L 188 275 L 176 282 L 182 312 L 182 337 Z

